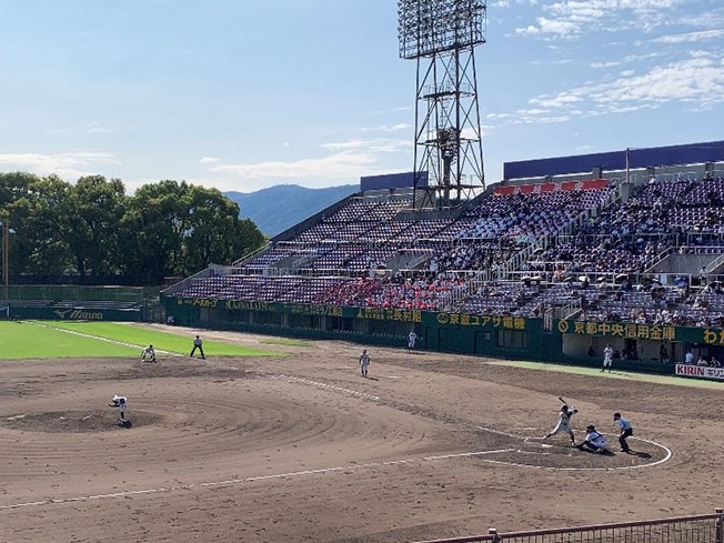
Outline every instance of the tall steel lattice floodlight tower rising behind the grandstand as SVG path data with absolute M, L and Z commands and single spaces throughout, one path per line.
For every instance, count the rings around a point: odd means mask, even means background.
M 450 205 L 485 188 L 475 46 L 485 43 L 485 0 L 398 0 L 400 58 L 418 61 L 415 205 Z

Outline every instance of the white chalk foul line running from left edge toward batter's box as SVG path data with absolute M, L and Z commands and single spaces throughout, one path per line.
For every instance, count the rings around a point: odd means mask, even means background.
M 39 500 L 34 502 L 24 502 L 24 503 L 13 503 L 10 505 L 0 505 L 0 511 L 7 511 L 12 509 L 21 507 L 33 507 L 38 505 L 51 505 L 51 504 L 62 504 L 62 503 L 74 503 L 74 502 L 87 502 L 90 500 L 103 500 L 109 497 L 128 497 L 128 496 L 139 496 L 147 494 L 158 494 L 162 492 L 174 492 L 179 490 L 191 490 L 191 489 L 209 489 L 212 486 L 225 486 L 240 483 L 251 483 L 255 481 L 270 481 L 275 479 L 292 479 L 304 475 L 320 475 L 325 473 L 335 473 L 351 470 L 363 470 L 363 469 L 374 469 L 374 467 L 384 467 L 389 465 L 401 465 L 410 464 L 413 462 L 434 462 L 439 460 L 450 460 L 450 459 L 460 459 L 460 457 L 470 457 L 470 456 L 483 456 L 485 454 L 500 454 L 512 452 L 513 449 L 499 449 L 496 451 L 477 451 L 469 453 L 452 453 L 452 454 L 439 454 L 434 456 L 421 456 L 415 459 L 404 459 L 404 460 L 390 460 L 388 462 L 371 462 L 368 464 L 350 464 L 338 467 L 321 467 L 319 470 L 303 470 L 289 473 L 276 473 L 274 475 L 257 475 L 251 477 L 241 477 L 241 479 L 228 479 L 225 481 L 213 481 L 209 483 L 198 483 L 198 484 L 183 484 L 177 486 L 161 486 L 159 489 L 147 489 L 147 490 L 134 490 L 134 491 L 121 491 L 112 492 L 109 494 L 91 494 L 87 496 L 77 496 L 77 497 L 48 497 L 46 500 Z

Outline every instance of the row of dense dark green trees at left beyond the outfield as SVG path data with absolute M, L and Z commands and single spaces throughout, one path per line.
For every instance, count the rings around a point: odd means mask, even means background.
M 124 276 L 139 285 L 228 264 L 264 235 L 217 189 L 164 180 L 127 195 L 119 179 L 69 183 L 57 175 L 0 173 L 0 220 L 9 221 L 11 273 Z

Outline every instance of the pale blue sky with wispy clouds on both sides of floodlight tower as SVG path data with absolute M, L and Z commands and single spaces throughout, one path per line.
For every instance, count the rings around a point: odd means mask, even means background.
M 132 192 L 356 183 L 412 170 L 395 0 L 3 0 L 0 171 Z M 496 0 L 476 49 L 504 161 L 724 139 L 721 0 Z

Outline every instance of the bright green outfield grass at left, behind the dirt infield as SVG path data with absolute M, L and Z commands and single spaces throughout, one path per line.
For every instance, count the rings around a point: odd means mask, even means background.
M 202 338 L 203 339 L 203 338 Z M 160 354 L 187 354 L 193 336 L 140 329 L 117 322 L 3 321 L 0 322 L 0 360 L 48 358 L 140 356 L 152 344 Z M 250 349 L 220 341 L 203 341 L 207 356 L 282 356 L 282 353 Z

